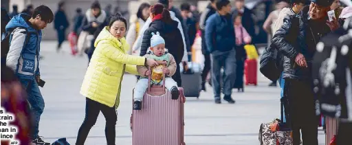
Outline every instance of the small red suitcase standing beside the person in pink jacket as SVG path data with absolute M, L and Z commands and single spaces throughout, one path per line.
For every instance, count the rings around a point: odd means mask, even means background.
M 257 63 L 255 59 L 245 60 L 245 85 L 258 85 L 256 73 Z

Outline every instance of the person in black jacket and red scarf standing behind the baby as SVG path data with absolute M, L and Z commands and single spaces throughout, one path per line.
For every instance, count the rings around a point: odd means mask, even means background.
M 142 39 L 142 45 L 140 49 L 140 56 L 144 56 L 146 51 L 151 46 L 152 32 L 156 34 L 159 32 L 160 36 L 165 40 L 165 47 L 168 52 L 175 58 L 176 64 L 181 63 L 184 58 L 184 43 L 181 36 L 181 31 L 177 28 L 179 23 L 174 21 L 170 17 L 170 13 L 162 3 L 157 3 L 151 6 L 151 24 L 146 29 Z M 181 73 L 180 68 L 177 67 L 176 73 L 173 75 L 173 80 L 177 82 L 177 85 L 181 86 Z

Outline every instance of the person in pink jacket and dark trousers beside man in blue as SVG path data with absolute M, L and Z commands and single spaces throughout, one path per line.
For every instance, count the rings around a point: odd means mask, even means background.
M 248 34 L 245 27 L 242 25 L 242 15 L 238 14 L 234 16 L 234 34 L 236 38 L 236 80 L 234 81 L 234 88 L 243 90 L 243 69 L 245 58 L 247 54 L 245 54 L 244 46 L 252 42 L 252 38 L 250 34 Z

